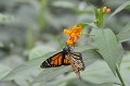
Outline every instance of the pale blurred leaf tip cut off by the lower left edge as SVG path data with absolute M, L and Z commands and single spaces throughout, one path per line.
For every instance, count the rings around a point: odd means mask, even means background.
M 9 66 L 0 64 L 0 79 L 3 78 L 10 71 L 11 69 Z

